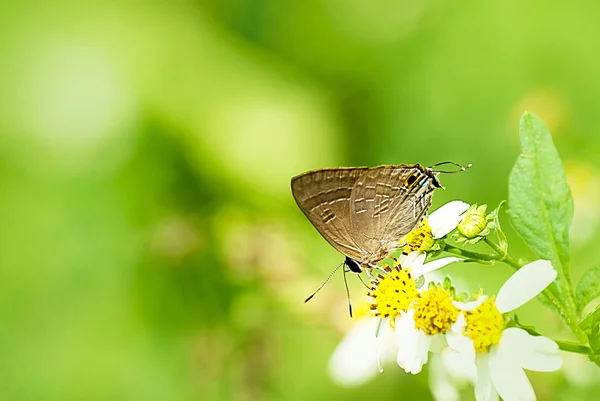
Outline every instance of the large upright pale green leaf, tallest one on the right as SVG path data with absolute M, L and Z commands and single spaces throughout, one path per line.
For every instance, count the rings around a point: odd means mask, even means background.
M 537 116 L 523 115 L 519 136 L 522 151 L 509 177 L 511 222 L 540 258 L 552 262 L 559 280 L 570 282 L 573 198 L 563 165 L 548 129 Z

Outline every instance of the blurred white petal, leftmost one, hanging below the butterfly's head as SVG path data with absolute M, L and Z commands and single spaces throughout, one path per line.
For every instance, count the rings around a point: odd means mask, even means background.
M 379 319 L 362 317 L 346 333 L 329 359 L 329 374 L 340 386 L 357 387 L 380 372 L 381 364 L 393 360 L 396 353 L 394 332 Z

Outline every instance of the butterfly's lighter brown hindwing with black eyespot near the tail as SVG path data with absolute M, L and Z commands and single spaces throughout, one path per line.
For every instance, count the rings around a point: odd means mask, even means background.
M 350 200 L 357 241 L 375 252 L 394 249 L 431 205 L 432 178 L 420 165 L 379 166 L 362 174 Z

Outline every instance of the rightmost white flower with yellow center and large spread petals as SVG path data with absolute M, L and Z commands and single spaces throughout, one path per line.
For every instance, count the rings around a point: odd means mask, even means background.
M 448 345 L 477 366 L 477 401 L 535 400 L 523 369 L 551 372 L 560 368 L 558 345 L 525 330 L 504 327 L 502 314 L 510 312 L 541 293 L 556 279 L 547 260 L 520 268 L 504 283 L 495 301 L 480 296 L 475 302 L 455 305 L 463 310 L 446 339 Z

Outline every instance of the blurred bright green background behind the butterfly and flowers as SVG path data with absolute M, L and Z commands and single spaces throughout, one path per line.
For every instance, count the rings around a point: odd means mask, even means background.
M 452 160 L 474 167 L 434 208 L 495 207 L 532 111 L 572 185 L 578 278 L 600 257 L 599 20 L 590 0 L 3 2 L 0 398 L 430 399 L 393 364 L 328 374 L 357 319 L 341 275 L 302 303 L 341 256 L 290 178 Z M 490 293 L 510 275 L 445 272 Z M 537 301 L 521 316 L 570 338 Z M 578 400 L 599 371 L 530 377 Z

